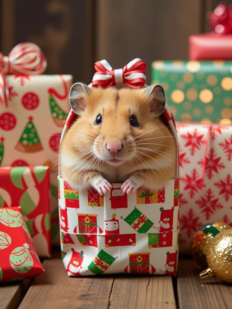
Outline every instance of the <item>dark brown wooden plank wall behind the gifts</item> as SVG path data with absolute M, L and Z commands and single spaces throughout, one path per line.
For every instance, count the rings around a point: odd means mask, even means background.
M 1 0 L 0 50 L 23 41 L 38 44 L 46 73 L 72 74 L 90 83 L 93 64 L 114 68 L 140 57 L 187 59 L 188 36 L 209 30 L 206 12 L 218 0 Z M 231 0 L 226 0 L 229 4 Z

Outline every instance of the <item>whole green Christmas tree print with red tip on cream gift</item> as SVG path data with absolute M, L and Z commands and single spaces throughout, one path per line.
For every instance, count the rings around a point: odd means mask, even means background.
M 15 149 L 22 152 L 37 152 L 43 150 L 38 133 L 32 122 L 32 116 L 28 117 L 28 123 L 15 146 Z

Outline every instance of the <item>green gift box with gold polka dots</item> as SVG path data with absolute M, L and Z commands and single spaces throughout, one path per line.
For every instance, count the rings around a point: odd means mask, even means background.
M 151 74 L 175 120 L 231 124 L 232 61 L 154 61 Z

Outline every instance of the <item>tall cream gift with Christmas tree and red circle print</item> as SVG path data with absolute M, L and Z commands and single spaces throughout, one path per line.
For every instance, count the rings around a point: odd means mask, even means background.
M 7 106 L 0 107 L 0 165 L 50 167 L 51 238 L 59 244 L 58 148 L 70 111 L 71 75 L 6 75 Z

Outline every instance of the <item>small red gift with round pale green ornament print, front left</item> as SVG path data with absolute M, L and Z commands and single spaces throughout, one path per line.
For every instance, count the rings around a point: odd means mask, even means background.
M 44 269 L 20 207 L 0 208 L 0 283 L 34 278 Z

